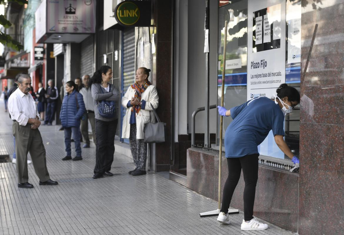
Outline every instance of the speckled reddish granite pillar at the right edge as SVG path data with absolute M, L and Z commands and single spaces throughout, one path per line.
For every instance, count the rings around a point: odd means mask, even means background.
M 344 1 L 302 1 L 299 234 L 344 232 Z

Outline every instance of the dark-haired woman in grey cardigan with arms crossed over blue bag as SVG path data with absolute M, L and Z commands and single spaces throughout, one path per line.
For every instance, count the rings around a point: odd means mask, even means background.
M 118 123 L 116 102 L 119 93 L 110 83 L 112 69 L 110 66 L 101 66 L 90 80 L 91 93 L 94 99 L 94 114 L 96 119 L 96 166 L 94 179 L 112 176 L 111 164 L 114 161 L 115 135 Z

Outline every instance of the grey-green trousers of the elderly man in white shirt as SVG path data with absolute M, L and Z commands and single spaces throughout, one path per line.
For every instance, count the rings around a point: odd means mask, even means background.
M 41 182 L 50 179 L 46 168 L 45 148 L 41 133 L 38 129 L 31 129 L 31 124 L 21 126 L 17 121 L 13 122 L 13 136 L 15 137 L 15 153 L 17 157 L 18 183 L 29 181 L 28 152 L 30 152 L 32 165 Z

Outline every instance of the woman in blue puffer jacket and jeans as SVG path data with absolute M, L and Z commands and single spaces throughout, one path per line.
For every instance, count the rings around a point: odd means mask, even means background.
M 75 143 L 76 156 L 73 161 L 83 160 L 81 156 L 80 147 L 80 120 L 85 112 L 85 104 L 83 95 L 78 92 L 78 86 L 73 81 L 66 83 L 67 95 L 63 98 L 60 120 L 64 127 L 66 156 L 62 158 L 63 161 L 72 159 L 71 151 L 71 136 L 73 133 L 73 139 Z

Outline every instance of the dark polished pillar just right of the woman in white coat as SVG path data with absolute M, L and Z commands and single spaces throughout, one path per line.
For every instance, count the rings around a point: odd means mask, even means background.
M 158 116 L 166 123 L 165 142 L 155 145 L 156 171 L 169 171 L 172 156 L 172 0 L 153 1 L 153 18 L 157 26 L 156 35 L 156 87 L 159 95 Z

